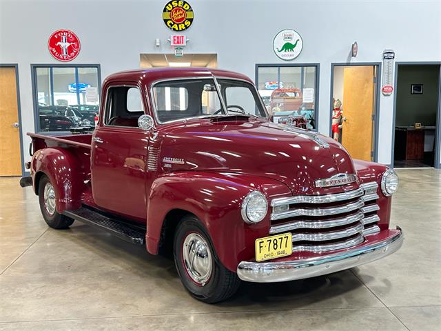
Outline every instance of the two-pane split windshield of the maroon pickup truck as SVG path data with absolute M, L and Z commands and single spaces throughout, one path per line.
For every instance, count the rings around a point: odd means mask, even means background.
M 254 86 L 245 81 L 182 79 L 156 83 L 152 89 L 159 122 L 192 117 L 249 114 L 267 117 Z M 220 102 L 223 97 L 223 103 Z

